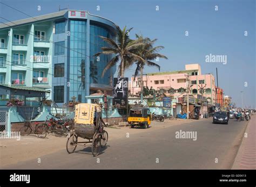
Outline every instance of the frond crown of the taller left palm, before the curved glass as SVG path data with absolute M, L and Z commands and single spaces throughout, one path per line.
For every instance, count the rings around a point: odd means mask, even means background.
M 100 54 L 109 55 L 114 54 L 114 57 L 107 63 L 106 67 L 102 72 L 102 77 L 106 73 L 106 70 L 115 66 L 118 61 L 120 64 L 118 66 L 118 76 L 124 77 L 124 71 L 128 67 L 133 64 L 134 61 L 144 61 L 142 57 L 137 55 L 136 49 L 140 46 L 143 46 L 144 43 L 142 40 L 131 40 L 129 38 L 129 32 L 132 28 L 126 30 L 126 26 L 123 30 L 120 29 L 119 26 L 116 25 L 117 32 L 117 42 L 112 40 L 111 38 L 106 38 L 100 36 L 104 41 L 109 44 L 108 47 L 102 47 L 102 52 L 96 53 L 95 56 L 99 56 Z

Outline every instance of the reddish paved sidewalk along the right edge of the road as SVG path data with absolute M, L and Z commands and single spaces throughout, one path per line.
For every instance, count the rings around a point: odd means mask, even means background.
M 251 116 L 232 169 L 256 169 L 256 115 Z

